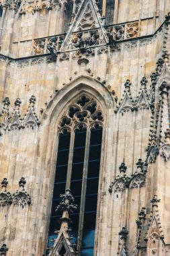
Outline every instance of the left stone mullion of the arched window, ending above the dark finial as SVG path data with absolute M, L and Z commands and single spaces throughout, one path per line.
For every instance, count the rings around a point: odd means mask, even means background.
M 66 189 L 70 189 L 70 187 L 71 187 L 71 173 L 72 173 L 72 164 L 73 164 L 74 142 L 75 142 L 75 132 L 72 130 L 71 131 L 70 148 L 69 148 L 69 160 L 68 160 L 68 167 L 67 167 Z

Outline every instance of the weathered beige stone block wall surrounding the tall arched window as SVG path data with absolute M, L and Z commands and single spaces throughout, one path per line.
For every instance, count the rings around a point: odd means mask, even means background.
M 116 46 L 94 45 L 92 53 L 88 54 L 77 55 L 77 50 L 63 51 L 58 53 L 57 59 L 52 59 L 44 50 L 38 56 L 34 40 L 63 32 L 63 5 L 50 10 L 42 8 L 34 15 L 30 11 L 25 15 L 19 14 L 19 10 L 17 13 L 12 9 L 6 11 L 0 59 L 0 106 L 3 109 L 0 117 L 0 123 L 3 123 L 0 181 L 7 178 L 7 191 L 12 194 L 19 189 L 18 182 L 24 177 L 24 189 L 31 197 L 31 204 L 24 207 L 13 203 L 0 206 L 0 246 L 5 243 L 9 247 L 7 256 L 45 254 L 56 164 L 57 125 L 69 102 L 83 93 L 98 100 L 105 119 L 94 255 L 116 255 L 118 232 L 124 226 L 129 232 L 126 241 L 128 255 L 133 255 L 138 212 L 141 207 L 146 207 L 148 218 L 154 193 L 161 197 L 163 232 L 166 243 L 170 243 L 169 175 L 162 178 L 161 172 L 157 171 L 169 172 L 168 162 L 160 158 L 157 165 L 148 167 L 146 187 L 120 190 L 112 187 L 112 193 L 108 191 L 110 184 L 120 175 L 122 162 L 127 166 L 127 177 L 130 177 L 138 170 L 138 159 L 146 159 L 152 115 L 149 100 L 145 95 L 146 101 L 138 102 L 136 110 L 130 106 L 130 99 L 132 97 L 137 102 L 145 89 L 148 94 L 151 92 L 150 75 L 163 55 L 165 29 L 161 24 L 170 4 L 161 0 L 121 0 L 115 1 L 115 5 L 117 2 L 115 24 L 137 21 L 138 36 L 118 40 Z M 80 59 L 86 59 L 87 63 L 79 64 Z M 145 89 L 140 83 L 142 77 L 148 80 Z M 127 79 L 132 83 L 130 92 L 124 86 Z M 36 97 L 34 102 L 30 102 L 32 95 Z M 5 97 L 9 98 L 10 104 L 4 104 Z M 19 106 L 15 105 L 17 98 L 22 101 Z M 30 109 L 35 114 L 30 114 Z M 22 118 L 20 121 L 16 119 L 16 126 L 15 111 L 17 117 Z

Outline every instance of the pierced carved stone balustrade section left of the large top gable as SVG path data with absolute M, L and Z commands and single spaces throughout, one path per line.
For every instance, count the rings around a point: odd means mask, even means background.
M 40 55 L 44 53 L 50 53 L 49 47 L 55 49 L 57 52 L 60 50 L 60 46 L 65 39 L 65 34 L 60 36 L 50 36 L 48 38 L 40 38 L 34 40 L 34 54 Z

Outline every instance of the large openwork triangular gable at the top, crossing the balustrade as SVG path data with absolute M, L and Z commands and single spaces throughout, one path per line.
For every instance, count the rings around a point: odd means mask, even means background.
M 84 30 L 85 32 L 83 32 Z M 84 34 L 82 35 L 82 33 Z M 107 35 L 103 29 L 103 21 L 99 15 L 98 7 L 93 0 L 82 1 L 75 20 L 60 47 L 60 52 L 79 49 L 79 40 L 85 39 L 87 40 L 86 46 L 103 45 L 107 43 Z

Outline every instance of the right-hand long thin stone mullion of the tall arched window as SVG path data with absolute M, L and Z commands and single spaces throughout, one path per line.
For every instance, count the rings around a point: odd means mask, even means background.
M 85 141 L 85 158 L 83 166 L 83 181 L 81 187 L 81 204 L 80 204 L 80 214 L 79 214 L 79 228 L 77 236 L 77 251 L 81 255 L 81 243 L 83 238 L 83 223 L 85 214 L 85 195 L 87 188 L 87 174 L 88 174 L 88 161 L 89 161 L 89 146 L 90 146 L 90 129 L 87 129 L 86 141 Z

